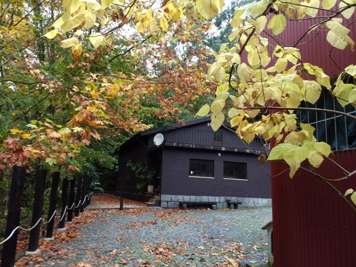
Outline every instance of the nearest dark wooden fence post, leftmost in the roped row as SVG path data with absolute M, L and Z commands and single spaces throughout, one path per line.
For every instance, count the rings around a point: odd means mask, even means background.
M 25 167 L 15 166 L 12 171 L 9 210 L 7 211 L 5 237 L 10 236 L 12 231 L 19 226 L 21 200 L 23 194 L 23 185 L 25 184 Z M 1 256 L 1 267 L 14 266 L 16 256 L 17 234 L 19 230 L 4 243 Z

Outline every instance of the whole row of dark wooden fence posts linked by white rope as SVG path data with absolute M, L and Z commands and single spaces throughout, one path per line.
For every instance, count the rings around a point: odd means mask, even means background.
M 58 214 L 57 218 L 59 220 L 59 223 L 57 225 L 58 230 L 65 230 L 66 221 L 68 223 L 72 222 L 73 213 L 75 214 L 74 217 L 78 217 L 79 213 L 83 213 L 85 207 L 90 204 L 89 191 L 92 178 L 86 173 L 84 173 L 83 175 L 82 173 L 78 172 L 71 180 L 68 180 L 68 178 L 65 177 L 63 178 L 61 190 L 61 209 L 57 210 L 57 193 L 59 188 L 58 186 L 60 181 L 60 172 L 53 172 L 51 193 L 49 196 L 48 217 L 47 221 L 45 221 L 46 219 L 43 218 L 43 193 L 45 191 L 47 170 L 37 169 L 35 173 L 36 183 L 35 197 L 33 199 L 32 208 L 32 226 L 28 229 L 23 228 L 20 226 L 20 215 L 23 189 L 25 186 L 25 176 L 25 167 L 14 166 L 12 172 L 11 189 L 9 194 L 10 198 L 8 201 L 9 208 L 7 210 L 6 228 L 4 234 L 6 238 L 0 242 L 0 245 L 3 245 L 0 267 L 14 266 L 16 257 L 17 236 L 19 230 L 30 231 L 28 240 L 28 251 L 25 254 L 36 254 L 40 252 L 38 245 L 41 235 L 41 221 L 43 222 L 44 226 L 42 235 L 45 235 L 46 232 L 45 240 L 53 240 L 53 228 L 56 214 Z M 70 205 L 70 203 L 72 204 Z M 67 214 L 68 218 L 66 220 Z

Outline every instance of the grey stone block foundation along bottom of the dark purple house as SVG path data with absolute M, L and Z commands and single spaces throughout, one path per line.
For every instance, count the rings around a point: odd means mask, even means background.
M 216 202 L 217 208 L 219 209 L 219 208 L 227 208 L 226 199 L 230 199 L 231 202 L 242 202 L 242 204 L 239 205 L 239 208 L 272 205 L 272 200 L 270 198 L 161 195 L 161 207 L 179 208 L 179 201 L 191 201 L 191 202 Z

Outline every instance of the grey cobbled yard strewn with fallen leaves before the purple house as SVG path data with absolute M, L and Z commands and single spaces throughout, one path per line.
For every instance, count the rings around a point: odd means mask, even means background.
M 261 227 L 272 219 L 271 207 L 100 214 L 106 221 L 83 225 L 82 236 L 61 244 L 63 253 L 43 253 L 28 266 L 212 266 L 267 258 Z

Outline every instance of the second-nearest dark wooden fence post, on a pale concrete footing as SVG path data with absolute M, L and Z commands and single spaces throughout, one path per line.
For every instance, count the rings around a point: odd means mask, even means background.
M 43 211 L 43 192 L 45 191 L 47 170 L 36 170 L 36 187 L 35 187 L 35 199 L 33 199 L 32 220 L 31 226 L 35 225 L 37 221 L 42 217 Z M 28 250 L 26 255 L 39 253 L 38 241 L 40 240 L 40 228 L 41 222 L 38 223 L 30 231 L 30 240 L 28 241 Z

